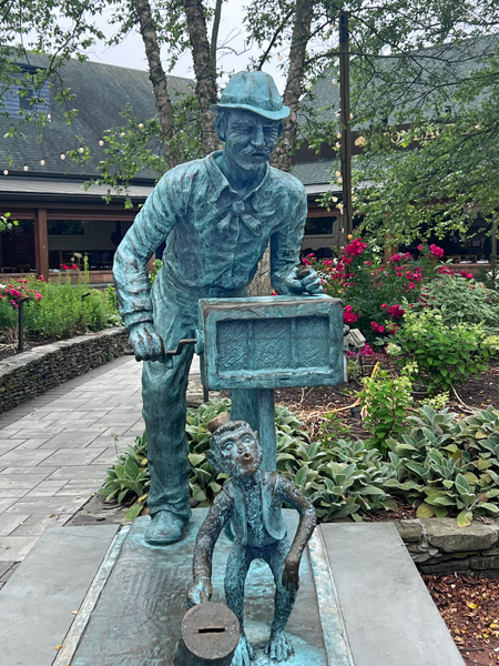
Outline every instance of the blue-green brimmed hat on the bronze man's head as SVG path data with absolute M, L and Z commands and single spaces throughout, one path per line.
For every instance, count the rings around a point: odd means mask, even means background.
M 283 105 L 274 79 L 259 71 L 237 72 L 231 77 L 220 104 L 211 107 L 212 111 L 218 109 L 244 109 L 269 120 L 284 120 L 289 115 L 289 108 Z

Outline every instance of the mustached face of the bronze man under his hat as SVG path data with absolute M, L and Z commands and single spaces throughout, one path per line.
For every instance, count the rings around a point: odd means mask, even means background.
M 251 111 L 228 113 L 225 131 L 225 152 L 238 167 L 259 171 L 271 159 L 281 121 L 268 120 Z

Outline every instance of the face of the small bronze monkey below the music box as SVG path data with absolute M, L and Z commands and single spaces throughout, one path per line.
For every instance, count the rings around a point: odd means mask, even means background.
M 262 448 L 258 440 L 247 427 L 238 427 L 220 435 L 213 446 L 215 466 L 232 478 L 252 476 L 262 462 Z

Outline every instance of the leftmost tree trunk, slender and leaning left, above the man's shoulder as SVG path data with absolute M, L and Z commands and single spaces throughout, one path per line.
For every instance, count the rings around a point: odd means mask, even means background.
M 156 27 L 147 0 L 135 0 L 135 7 L 139 14 L 140 32 L 145 47 L 145 56 L 147 58 L 149 78 L 153 85 L 154 103 L 163 133 L 164 153 L 169 167 L 172 169 L 173 167 L 176 167 L 181 160 L 175 145 L 173 107 L 170 101 L 166 74 L 161 64 Z

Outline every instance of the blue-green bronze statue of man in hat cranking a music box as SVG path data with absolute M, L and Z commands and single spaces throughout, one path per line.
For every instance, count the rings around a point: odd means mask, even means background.
M 289 109 L 264 72 L 234 74 L 221 97 L 215 130 L 224 150 L 180 164 L 154 188 L 114 258 L 124 325 L 142 373 L 152 521 L 150 544 L 176 542 L 191 516 L 185 393 L 194 350 L 164 363 L 164 350 L 194 337 L 197 301 L 247 295 L 271 241 L 278 294 L 319 293 L 316 273 L 298 276 L 307 200 L 302 183 L 268 162 Z M 150 289 L 146 263 L 166 242 Z

